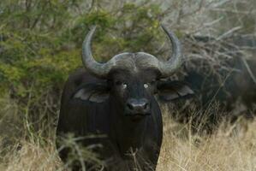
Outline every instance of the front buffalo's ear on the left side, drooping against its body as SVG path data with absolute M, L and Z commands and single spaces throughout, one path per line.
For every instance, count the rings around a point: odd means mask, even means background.
M 103 103 L 110 97 L 110 90 L 106 84 L 86 84 L 81 85 L 75 91 L 73 98 L 93 103 Z

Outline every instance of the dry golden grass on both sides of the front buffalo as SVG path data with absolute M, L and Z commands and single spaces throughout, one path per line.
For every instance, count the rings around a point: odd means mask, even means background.
M 178 124 L 164 114 L 164 142 L 158 171 L 256 170 L 256 121 L 246 126 L 241 123 L 223 124 L 213 135 L 199 136 L 189 131 L 189 124 Z M 44 148 L 25 140 L 20 144 L 21 148 L 16 145 L 3 157 L 0 170 L 63 170 L 54 144 Z

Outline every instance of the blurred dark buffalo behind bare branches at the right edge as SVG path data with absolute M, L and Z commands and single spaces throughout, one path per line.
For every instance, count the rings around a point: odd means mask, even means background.
M 200 51 L 204 50 L 205 56 L 188 62 L 188 68 L 184 69 L 184 81 L 193 88 L 203 115 L 209 115 L 210 122 L 221 121 L 223 116 L 231 121 L 241 116 L 253 118 L 256 104 L 256 38 L 234 36 L 217 41 L 216 38 L 196 36 L 190 39 L 195 44 L 191 48 L 196 50 L 194 54 L 203 54 Z M 211 59 L 206 56 L 211 56 Z M 214 60 L 217 62 L 214 63 Z M 216 103 L 222 111 L 209 112 L 211 105 Z M 195 119 L 198 118 L 196 115 Z

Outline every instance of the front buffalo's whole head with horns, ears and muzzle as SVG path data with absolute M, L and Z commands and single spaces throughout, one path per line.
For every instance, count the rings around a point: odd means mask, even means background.
M 91 42 L 96 29 L 93 27 L 83 43 L 82 62 L 90 74 L 104 81 L 80 87 L 74 97 L 94 103 L 110 99 L 121 110 L 119 113 L 143 118 L 152 114 L 154 95 L 169 101 L 193 93 L 186 85 L 163 80 L 180 68 L 182 47 L 176 35 L 162 27 L 172 44 L 173 52 L 167 62 L 137 52 L 116 55 L 105 63 L 96 62 L 92 56 Z

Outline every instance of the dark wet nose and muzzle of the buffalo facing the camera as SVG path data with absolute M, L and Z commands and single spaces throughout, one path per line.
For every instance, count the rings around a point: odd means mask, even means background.
M 149 103 L 146 98 L 130 98 L 127 102 L 128 114 L 146 115 L 149 113 Z

